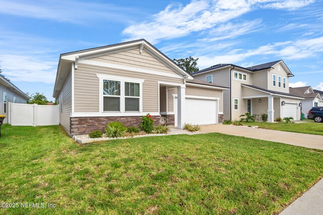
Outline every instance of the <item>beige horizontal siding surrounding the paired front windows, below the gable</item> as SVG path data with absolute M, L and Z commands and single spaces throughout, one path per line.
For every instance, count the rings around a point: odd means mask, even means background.
M 74 75 L 75 112 L 99 112 L 99 79 L 96 74 L 144 79 L 143 112 L 158 112 L 158 81 L 183 84 L 182 79 L 79 63 Z

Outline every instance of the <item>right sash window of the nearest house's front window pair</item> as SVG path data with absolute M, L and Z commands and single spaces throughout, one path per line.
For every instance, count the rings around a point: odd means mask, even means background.
M 139 111 L 140 84 L 125 82 L 125 111 Z

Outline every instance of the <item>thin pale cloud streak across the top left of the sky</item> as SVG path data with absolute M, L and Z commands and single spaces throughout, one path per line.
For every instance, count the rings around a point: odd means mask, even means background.
M 112 4 L 82 3 L 80 1 L 4 1 L 0 0 L 0 13 L 35 19 L 84 24 L 93 20 L 131 23 L 130 15 L 139 14 L 131 8 Z M 93 24 L 93 22 L 92 22 Z

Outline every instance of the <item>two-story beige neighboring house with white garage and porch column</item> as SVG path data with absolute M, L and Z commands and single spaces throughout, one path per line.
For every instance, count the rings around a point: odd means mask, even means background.
M 294 75 L 283 60 L 250 67 L 217 64 L 192 74 L 195 79 L 229 87 L 223 92 L 225 120 L 239 120 L 249 112 L 256 117 L 268 115 L 268 122 L 278 117 L 300 119 L 302 97 L 290 94 L 289 78 Z

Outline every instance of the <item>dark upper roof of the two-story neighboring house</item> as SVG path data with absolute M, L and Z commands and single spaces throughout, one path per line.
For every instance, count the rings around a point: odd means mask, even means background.
M 249 66 L 249 67 L 243 67 L 243 66 L 239 66 L 236 64 L 232 64 L 232 63 L 220 63 L 217 65 L 213 65 L 213 66 L 201 69 L 199 71 L 196 71 L 195 73 L 192 73 L 192 75 L 196 75 L 199 73 L 203 73 L 205 71 L 209 71 L 209 70 L 213 70 L 213 69 L 217 69 L 217 68 L 221 68 L 221 67 L 226 67 L 226 66 L 234 66 L 237 68 L 245 69 L 250 72 L 256 72 L 256 71 L 261 71 L 261 70 L 265 70 L 265 69 L 272 69 L 273 66 L 275 66 L 277 63 L 280 63 L 280 62 L 282 62 L 283 65 L 286 67 L 286 69 L 289 71 L 290 76 L 294 76 L 283 60 L 275 60 L 272 62 L 262 63 L 262 64 L 253 65 L 253 66 Z

